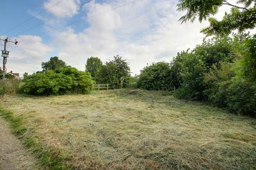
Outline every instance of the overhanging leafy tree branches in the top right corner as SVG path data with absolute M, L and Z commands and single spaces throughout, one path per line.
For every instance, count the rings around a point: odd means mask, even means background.
M 231 6 L 230 13 L 226 13 L 221 21 L 212 16 L 218 13 L 222 5 Z M 202 29 L 206 36 L 229 34 L 233 30 L 244 31 L 253 29 L 256 25 L 256 2 L 254 0 L 238 0 L 231 4 L 227 0 L 180 0 L 178 11 L 186 11 L 179 21 L 194 21 L 198 16 L 199 22 L 209 19 L 210 26 Z

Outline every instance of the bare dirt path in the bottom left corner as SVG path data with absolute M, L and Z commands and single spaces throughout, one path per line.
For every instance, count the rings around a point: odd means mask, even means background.
M 37 169 L 35 159 L 26 152 L 5 120 L 0 116 L 0 170 Z

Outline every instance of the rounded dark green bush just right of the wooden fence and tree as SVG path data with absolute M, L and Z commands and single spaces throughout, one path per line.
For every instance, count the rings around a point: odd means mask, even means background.
M 171 68 L 166 62 L 144 67 L 139 75 L 138 87 L 146 90 L 171 90 Z

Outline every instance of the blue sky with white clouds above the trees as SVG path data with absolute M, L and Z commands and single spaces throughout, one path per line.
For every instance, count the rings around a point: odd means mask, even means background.
M 41 63 L 53 56 L 85 70 L 91 56 L 104 63 L 118 54 L 129 63 L 132 75 L 139 74 L 147 64 L 170 62 L 181 50 L 201 44 L 204 35 L 200 30 L 208 25 L 207 21 L 181 24 L 178 20 L 183 12 L 176 10 L 177 3 L 178 0 L 2 1 L 1 38 L 19 41 L 17 46 L 8 45 L 7 72 L 42 70 Z M 217 18 L 229 10 L 222 7 Z M 1 57 L 1 65 L 2 60 Z

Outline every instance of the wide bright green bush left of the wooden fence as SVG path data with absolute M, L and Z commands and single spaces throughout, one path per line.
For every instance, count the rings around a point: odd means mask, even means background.
M 90 73 L 78 71 L 70 66 L 34 73 L 24 82 L 23 92 L 31 95 L 62 95 L 68 92 L 87 94 L 93 86 Z

